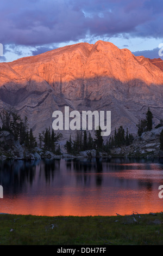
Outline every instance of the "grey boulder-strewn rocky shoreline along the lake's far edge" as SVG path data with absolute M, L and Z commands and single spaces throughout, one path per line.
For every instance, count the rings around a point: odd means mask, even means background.
M 76 156 L 65 153 L 61 149 L 59 156 L 42 148 L 35 147 L 29 151 L 19 141 L 14 141 L 11 133 L 7 131 L 0 132 L 0 160 L 41 160 L 41 159 L 61 159 L 61 158 L 112 158 L 112 157 L 139 157 L 139 158 L 156 158 L 163 157 L 163 151 L 160 150 L 159 137 L 163 127 L 153 129 L 150 132 L 137 136 L 133 144 L 112 148 L 109 153 L 97 152 L 96 150 L 86 150 L 79 152 Z

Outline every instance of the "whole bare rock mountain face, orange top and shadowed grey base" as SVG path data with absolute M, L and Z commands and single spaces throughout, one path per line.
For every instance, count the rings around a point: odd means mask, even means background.
M 162 67 L 160 60 L 104 41 L 65 46 L 0 63 L 0 107 L 26 115 L 35 135 L 52 127 L 52 112 L 65 105 L 70 111 L 111 110 L 112 130 L 122 125 L 136 133 L 148 106 L 155 124 L 162 118 Z

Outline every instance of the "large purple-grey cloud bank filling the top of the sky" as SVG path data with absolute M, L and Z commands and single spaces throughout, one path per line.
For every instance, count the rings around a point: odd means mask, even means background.
M 1 0 L 0 41 L 43 45 L 91 36 L 162 38 L 161 0 Z

